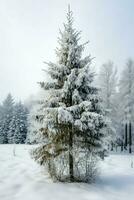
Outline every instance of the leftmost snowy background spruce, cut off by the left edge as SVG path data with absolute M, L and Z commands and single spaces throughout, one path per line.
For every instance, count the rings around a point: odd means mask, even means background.
M 2 113 L 1 113 L 0 137 L 3 139 L 1 139 L 0 142 L 3 144 L 8 143 L 9 124 L 13 117 L 13 109 L 14 109 L 14 101 L 11 94 L 8 94 L 2 104 Z

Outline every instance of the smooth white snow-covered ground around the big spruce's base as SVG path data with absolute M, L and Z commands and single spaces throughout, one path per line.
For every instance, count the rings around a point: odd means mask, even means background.
M 31 147 L 0 145 L 0 200 L 134 199 L 133 155 L 107 157 L 94 184 L 65 184 L 49 179 L 30 158 Z

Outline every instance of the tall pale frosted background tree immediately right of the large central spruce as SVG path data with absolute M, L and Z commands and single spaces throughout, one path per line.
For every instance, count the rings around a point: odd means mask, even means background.
M 109 135 L 111 149 L 117 139 L 118 127 L 118 107 L 117 107 L 117 69 L 113 62 L 108 61 L 103 64 L 99 71 L 98 86 L 100 87 L 100 96 L 102 105 L 107 116 L 106 132 Z M 113 136 L 113 137 L 111 137 Z

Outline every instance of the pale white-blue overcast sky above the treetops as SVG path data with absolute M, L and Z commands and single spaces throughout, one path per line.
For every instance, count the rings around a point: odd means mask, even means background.
M 110 59 L 121 70 L 134 58 L 133 0 L 0 0 L 0 101 L 8 92 L 22 100 L 36 94 L 68 4 L 97 69 Z

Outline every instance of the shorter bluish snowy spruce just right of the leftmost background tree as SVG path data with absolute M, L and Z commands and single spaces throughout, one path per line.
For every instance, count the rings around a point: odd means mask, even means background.
M 13 117 L 8 131 L 8 143 L 25 143 L 27 135 L 27 114 L 27 108 L 21 102 L 14 106 Z

